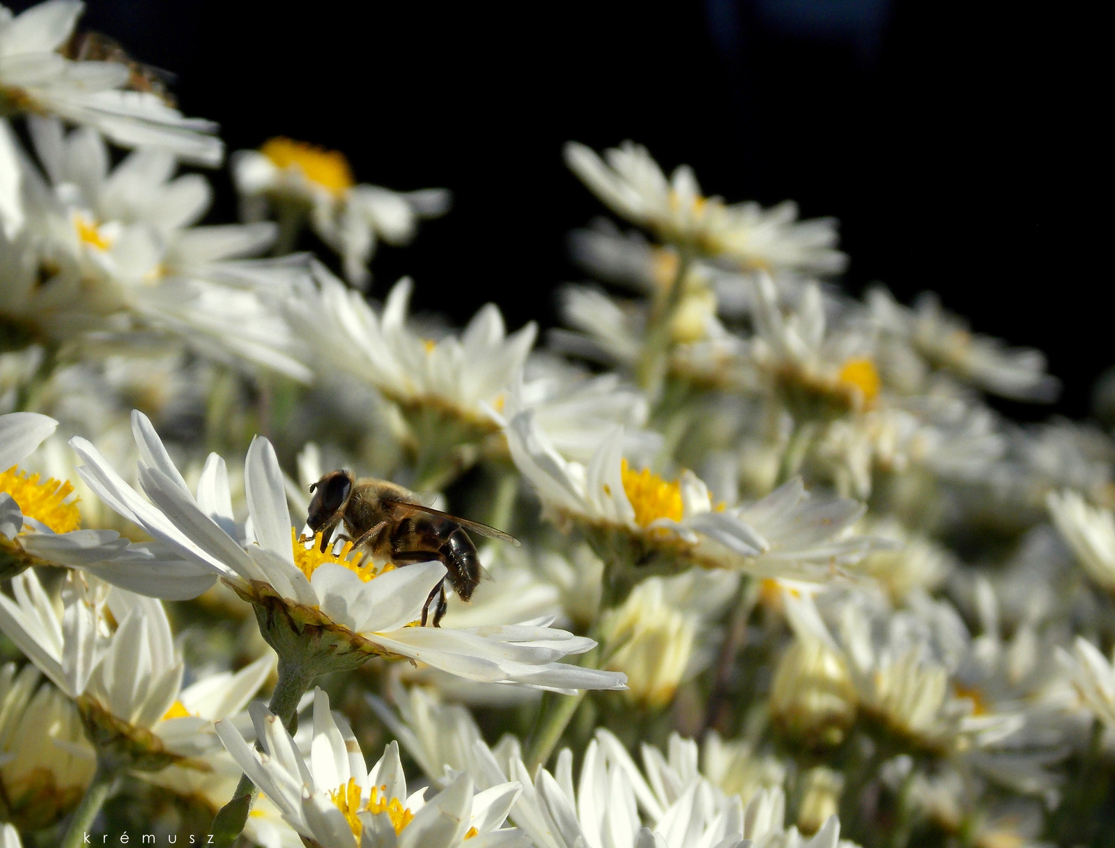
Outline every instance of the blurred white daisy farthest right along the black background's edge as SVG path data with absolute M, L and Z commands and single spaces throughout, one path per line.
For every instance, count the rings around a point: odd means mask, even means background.
M 972 334 L 946 312 L 934 295 L 923 295 L 911 309 L 885 289 L 867 296 L 873 321 L 884 335 L 908 345 L 933 368 L 941 368 L 992 394 L 1016 401 L 1048 403 L 1060 384 L 1046 374 L 1045 356 L 1032 348 L 1007 348 L 999 339 Z

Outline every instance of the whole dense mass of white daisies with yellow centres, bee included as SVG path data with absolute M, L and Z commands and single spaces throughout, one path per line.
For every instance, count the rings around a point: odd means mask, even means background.
M 1041 354 L 631 142 L 563 326 L 454 329 L 370 273 L 446 190 L 274 137 L 200 224 L 216 127 L 80 11 L 0 7 L 3 848 L 1106 844 L 1115 441 L 988 403 Z

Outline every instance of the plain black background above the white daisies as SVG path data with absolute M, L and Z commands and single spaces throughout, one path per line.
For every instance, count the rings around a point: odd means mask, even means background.
M 29 3 L 16 3 L 16 9 Z M 564 234 L 602 212 L 561 146 L 646 144 L 707 193 L 836 215 L 847 287 L 925 289 L 1049 355 L 1088 407 L 1111 350 L 1099 32 L 1068 7 L 952 0 L 440 4 L 94 0 L 81 26 L 175 71 L 229 150 L 289 135 L 357 179 L 447 186 L 453 212 L 377 256 L 374 293 L 553 324 Z M 1105 105 L 1106 104 L 1106 105 Z M 1106 162 L 1106 157 L 1103 158 Z M 234 215 L 217 180 L 214 220 Z M 1101 227 L 1104 227 L 1101 235 Z M 1105 239 L 1103 242 L 1101 239 Z M 1047 408 L 1009 411 L 1026 417 Z

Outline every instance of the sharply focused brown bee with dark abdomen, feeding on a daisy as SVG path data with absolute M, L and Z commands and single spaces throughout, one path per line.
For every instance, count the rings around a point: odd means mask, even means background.
M 343 523 L 353 549 L 388 557 L 396 566 L 433 559 L 445 566 L 445 578 L 434 587 L 421 609 L 423 627 L 435 600 L 434 626 L 440 626 L 446 609 L 446 580 L 465 601 L 472 598 L 481 580 L 479 556 L 466 530 L 518 545 L 518 540 L 494 527 L 432 509 L 419 502 L 414 492 L 387 480 L 357 480 L 349 471 L 331 471 L 311 485 L 310 491 L 313 499 L 306 523 L 314 533 L 322 531 L 322 551 L 332 543 L 336 528 Z

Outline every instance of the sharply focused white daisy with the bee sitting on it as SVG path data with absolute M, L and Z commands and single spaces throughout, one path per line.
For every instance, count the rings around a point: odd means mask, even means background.
M 351 668 L 369 656 L 408 658 L 469 680 L 545 688 L 620 688 L 622 675 L 554 662 L 592 648 L 591 639 L 535 621 L 466 629 L 411 627 L 445 578 L 440 562 L 405 568 L 322 552 L 318 539 L 299 541 L 287 507 L 274 449 L 256 437 L 244 463 L 251 536 L 241 539 L 232 515 L 224 460 L 211 454 L 190 491 L 142 413 L 133 413 L 144 499 L 90 443 L 71 440 L 85 466 L 81 476 L 113 509 L 182 557 L 219 575 L 260 610 L 261 630 L 283 655 L 284 640 L 320 644 L 331 662 Z M 234 533 L 234 534 L 230 534 Z M 175 580 L 174 569 L 165 571 Z M 122 582 L 126 582 L 122 578 Z M 298 633 L 291 636 L 291 617 Z M 306 647 L 300 648 L 304 652 Z

